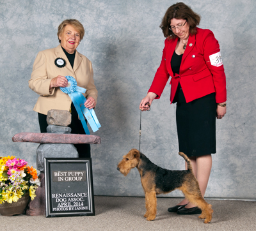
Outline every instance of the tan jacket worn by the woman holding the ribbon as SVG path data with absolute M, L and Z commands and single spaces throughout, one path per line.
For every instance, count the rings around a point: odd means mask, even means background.
M 54 64 L 58 57 L 66 61 L 66 66 L 63 68 L 58 68 Z M 76 51 L 74 68 L 72 69 L 61 45 L 58 45 L 56 48 L 40 51 L 36 56 L 29 87 L 40 96 L 33 110 L 47 115 L 51 109 L 70 109 L 72 101 L 68 94 L 63 93 L 60 87 L 53 87 L 51 91 L 49 90 L 52 78 L 58 75 L 70 75 L 76 78 L 77 86 L 87 89 L 84 94 L 85 98 L 92 97 L 97 102 L 98 91 L 94 85 L 91 61 Z

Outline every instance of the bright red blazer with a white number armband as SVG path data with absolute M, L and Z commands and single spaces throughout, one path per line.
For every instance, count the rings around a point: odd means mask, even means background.
M 171 68 L 171 59 L 178 38 L 164 41 L 162 61 L 148 90 L 157 94 L 156 99 L 160 98 L 171 76 L 171 103 L 179 82 L 187 103 L 214 92 L 216 103 L 227 100 L 226 76 L 220 56 L 220 45 L 209 29 L 196 28 L 196 30 L 195 35 L 189 36 L 179 75 L 176 73 L 174 75 Z

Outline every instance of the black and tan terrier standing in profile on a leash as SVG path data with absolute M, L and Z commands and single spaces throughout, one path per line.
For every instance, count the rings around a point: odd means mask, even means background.
M 145 192 L 147 211 L 144 216 L 148 221 L 156 218 L 156 195 L 181 190 L 189 202 L 202 210 L 202 214 L 198 218 L 205 219 L 204 223 L 209 223 L 212 219 L 212 205 L 205 202 L 201 195 L 188 156 L 184 153 L 179 153 L 179 155 L 188 163 L 188 170 L 173 171 L 158 167 L 137 149 L 131 149 L 128 154 L 123 156 L 123 160 L 118 163 L 117 170 L 126 176 L 132 168 L 138 169 Z

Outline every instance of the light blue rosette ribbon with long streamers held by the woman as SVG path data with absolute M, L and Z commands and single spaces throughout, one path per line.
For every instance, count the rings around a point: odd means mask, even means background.
M 88 126 L 86 124 L 84 117 L 87 119 L 93 132 L 98 131 L 101 125 L 99 123 L 99 120 L 97 119 L 95 111 L 93 109 L 89 110 L 88 108 L 84 107 L 86 98 L 83 96 L 82 93 L 85 93 L 86 89 L 77 86 L 77 82 L 74 77 L 69 75 L 65 77 L 68 80 L 68 86 L 60 87 L 60 89 L 63 93 L 68 94 L 68 96 L 71 98 L 76 108 L 77 114 L 79 115 L 86 135 L 90 135 L 90 131 L 88 130 Z

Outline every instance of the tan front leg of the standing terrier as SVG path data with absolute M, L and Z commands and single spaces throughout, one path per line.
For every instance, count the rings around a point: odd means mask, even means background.
M 150 191 L 145 193 L 146 208 L 145 218 L 148 221 L 153 221 L 156 218 L 156 191 Z

